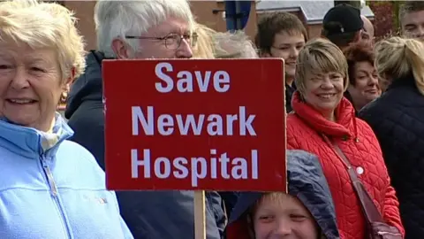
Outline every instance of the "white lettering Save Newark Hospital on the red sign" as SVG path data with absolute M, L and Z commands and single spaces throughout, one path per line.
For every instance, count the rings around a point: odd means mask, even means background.
M 177 79 L 173 79 L 170 73 L 177 73 Z M 231 89 L 231 76 L 226 71 L 179 71 L 170 63 L 162 62 L 156 64 L 155 76 L 157 78 L 155 90 L 163 94 L 211 90 L 225 94 Z M 161 114 L 156 113 L 160 111 L 156 111 L 155 105 L 134 105 L 131 111 L 133 135 L 257 136 L 254 129 L 256 115 L 248 113 L 244 105 L 240 105 L 231 113 Z M 142 174 L 146 179 L 152 177 L 191 179 L 193 188 L 198 187 L 201 179 L 205 178 L 257 180 L 260 176 L 258 173 L 260 152 L 256 149 L 248 151 L 250 157 L 235 157 L 227 152 L 218 153 L 217 149 L 210 149 L 206 157 L 185 155 L 167 158 L 157 157 L 161 152 L 154 152 L 151 149 L 132 149 L 132 178 L 139 178 Z M 139 173 L 139 170 L 143 173 Z

